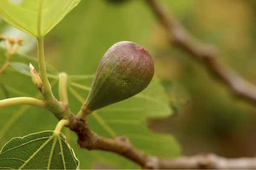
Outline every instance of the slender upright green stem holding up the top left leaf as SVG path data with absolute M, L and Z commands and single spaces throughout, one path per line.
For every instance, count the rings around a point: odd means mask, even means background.
M 38 37 L 38 65 L 40 77 L 44 86 L 44 99 L 47 101 L 54 101 L 55 97 L 52 94 L 52 88 L 47 78 L 46 66 L 44 62 L 44 37 Z

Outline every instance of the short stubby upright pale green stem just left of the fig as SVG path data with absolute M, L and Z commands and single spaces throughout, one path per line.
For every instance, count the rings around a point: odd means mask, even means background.
M 59 74 L 59 96 L 60 102 L 68 106 L 68 97 L 67 97 L 67 74 Z

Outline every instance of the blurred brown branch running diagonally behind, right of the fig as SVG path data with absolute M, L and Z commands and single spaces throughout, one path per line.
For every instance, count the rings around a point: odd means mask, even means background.
M 169 40 L 190 56 L 198 59 L 205 68 L 218 80 L 223 82 L 230 91 L 241 99 L 245 99 L 256 106 L 256 87 L 241 78 L 235 71 L 221 65 L 217 60 L 217 50 L 210 45 L 204 45 L 189 34 L 171 15 L 163 11 L 156 0 L 146 0 L 158 20 L 166 28 Z

